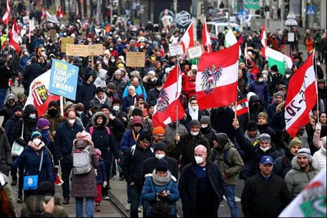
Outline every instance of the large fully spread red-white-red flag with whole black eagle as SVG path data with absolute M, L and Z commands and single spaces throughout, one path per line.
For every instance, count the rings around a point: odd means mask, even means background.
M 237 100 L 239 44 L 202 54 L 196 78 L 199 109 L 216 108 Z

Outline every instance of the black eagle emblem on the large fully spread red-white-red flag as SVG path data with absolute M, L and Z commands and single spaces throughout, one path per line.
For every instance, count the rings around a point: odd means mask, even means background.
M 201 87 L 205 95 L 214 92 L 219 78 L 222 76 L 223 69 L 221 66 L 209 66 L 204 69 L 201 77 Z

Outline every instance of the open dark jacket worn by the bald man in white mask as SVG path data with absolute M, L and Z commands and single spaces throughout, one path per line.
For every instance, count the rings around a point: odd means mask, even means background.
M 195 171 L 196 163 L 192 162 L 184 167 L 178 182 L 178 191 L 182 201 L 183 216 L 194 217 L 196 214 L 196 194 L 197 194 L 197 173 Z M 208 176 L 211 187 L 214 191 L 214 205 L 210 217 L 217 217 L 219 204 L 223 200 L 224 180 L 221 176 L 219 167 L 207 160 Z

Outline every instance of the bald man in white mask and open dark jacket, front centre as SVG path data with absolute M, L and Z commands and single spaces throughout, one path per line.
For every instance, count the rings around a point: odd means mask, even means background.
M 181 172 L 178 190 L 184 217 L 218 217 L 224 180 L 219 167 L 207 157 L 207 148 L 196 146 L 193 163 L 186 165 Z

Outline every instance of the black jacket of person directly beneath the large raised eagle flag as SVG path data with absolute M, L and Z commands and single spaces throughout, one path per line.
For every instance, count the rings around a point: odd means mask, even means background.
M 211 110 L 210 121 L 213 129 L 217 133 L 226 133 L 228 138 L 233 141 L 235 130 L 232 126 L 234 119 L 234 111 L 227 107 L 226 109 L 214 108 Z

